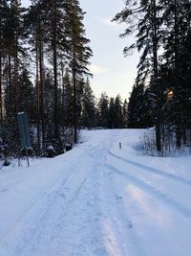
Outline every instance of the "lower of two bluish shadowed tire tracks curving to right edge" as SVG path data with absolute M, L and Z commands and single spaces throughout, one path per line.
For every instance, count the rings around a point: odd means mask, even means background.
M 162 193 L 157 188 L 147 184 L 144 180 L 138 178 L 134 175 L 129 175 L 127 173 L 122 172 L 121 170 L 117 169 L 116 167 L 107 164 L 108 168 L 112 170 L 115 174 L 123 176 L 133 182 L 136 186 L 138 186 L 141 190 L 145 191 L 148 194 L 152 194 L 156 196 L 159 200 L 166 203 L 167 205 L 171 206 L 177 213 L 187 219 L 191 219 L 191 209 L 188 209 L 181 205 L 178 201 L 173 198 L 170 198 L 167 194 Z

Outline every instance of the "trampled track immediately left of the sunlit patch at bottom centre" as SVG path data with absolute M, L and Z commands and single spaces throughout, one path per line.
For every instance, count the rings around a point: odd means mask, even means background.
M 99 207 L 99 196 L 97 192 L 100 185 L 99 179 L 97 178 L 99 166 L 92 161 L 90 155 L 92 150 L 96 152 L 96 147 L 86 149 L 87 151 L 83 149 L 89 160 L 91 160 L 91 165 L 89 164 L 87 166 L 86 183 L 77 198 L 70 203 L 69 209 L 65 211 L 65 214 L 62 215 L 60 220 L 61 226 L 65 226 L 67 230 L 69 228 L 68 222 L 73 222 L 73 238 L 75 237 L 75 241 L 71 242 L 71 239 L 68 238 L 67 242 L 67 244 L 71 244 L 70 248 L 73 248 L 73 250 L 69 249 L 70 256 L 108 255 L 100 235 L 99 221 L 102 213 Z M 71 219 L 74 215 L 76 216 L 75 220 L 74 218 Z M 58 244 L 60 245 L 57 247 L 56 255 L 62 255 L 59 252 L 63 251 L 64 248 L 61 243 L 64 240 L 64 234 L 62 232 L 59 233 L 60 237 L 58 241 L 60 242 Z

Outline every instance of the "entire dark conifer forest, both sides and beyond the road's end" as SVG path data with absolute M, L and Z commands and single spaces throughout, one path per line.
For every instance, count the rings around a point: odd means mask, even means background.
M 127 43 L 135 35 L 124 56 L 140 53 L 128 100 L 96 99 L 84 14 L 78 0 L 0 2 L 1 157 L 22 151 L 18 112 L 28 114 L 34 155 L 65 151 L 80 128 L 154 127 L 144 144 L 152 140 L 159 155 L 191 148 L 191 2 L 128 0 L 113 18 L 126 24 Z

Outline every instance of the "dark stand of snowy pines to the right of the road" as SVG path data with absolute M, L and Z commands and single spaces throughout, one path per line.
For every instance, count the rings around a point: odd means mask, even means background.
M 122 37 L 137 36 L 125 56 L 141 53 L 129 127 L 155 126 L 158 151 L 166 143 L 191 146 L 191 1 L 126 1 L 114 21 L 127 24 Z

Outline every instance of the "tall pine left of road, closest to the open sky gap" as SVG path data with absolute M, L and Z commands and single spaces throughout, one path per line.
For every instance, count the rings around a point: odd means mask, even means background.
M 88 46 L 90 40 L 85 37 L 85 30 L 83 25 L 84 12 L 79 6 L 77 0 L 66 1 L 65 5 L 65 27 L 67 45 L 68 45 L 68 56 L 70 58 L 70 68 L 72 70 L 73 77 L 73 93 L 74 93 L 74 104 L 73 104 L 73 123 L 74 123 L 74 142 L 77 142 L 77 81 L 83 75 L 90 75 L 87 65 L 89 64 L 89 58 L 92 56 L 92 50 Z

